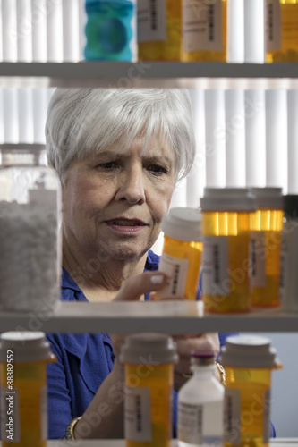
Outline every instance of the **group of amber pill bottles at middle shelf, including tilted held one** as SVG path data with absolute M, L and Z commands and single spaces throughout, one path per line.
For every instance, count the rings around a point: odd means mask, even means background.
M 156 299 L 199 298 L 207 313 L 297 310 L 298 199 L 281 188 L 205 188 L 200 210 L 172 208 L 161 223 Z

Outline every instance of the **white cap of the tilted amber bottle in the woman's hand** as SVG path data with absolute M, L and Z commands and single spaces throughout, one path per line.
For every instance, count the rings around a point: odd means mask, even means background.
M 196 208 L 172 208 L 160 225 L 169 238 L 197 242 L 201 236 L 201 214 Z

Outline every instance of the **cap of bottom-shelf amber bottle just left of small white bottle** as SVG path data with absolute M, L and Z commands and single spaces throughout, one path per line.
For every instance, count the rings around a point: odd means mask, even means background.
M 132 333 L 121 348 L 120 361 L 136 365 L 174 363 L 178 360 L 176 344 L 165 333 Z

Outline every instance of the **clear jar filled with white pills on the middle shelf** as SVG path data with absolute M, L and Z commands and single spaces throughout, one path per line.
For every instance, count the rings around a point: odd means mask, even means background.
M 43 145 L 0 145 L 0 308 L 51 316 L 60 304 L 60 181 Z

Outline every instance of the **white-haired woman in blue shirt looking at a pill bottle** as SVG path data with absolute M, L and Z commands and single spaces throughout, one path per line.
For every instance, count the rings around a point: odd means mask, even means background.
M 63 191 L 62 299 L 148 299 L 166 281 L 149 249 L 195 154 L 187 91 L 57 89 L 46 137 Z M 123 437 L 123 369 L 110 336 L 48 340 L 58 359 L 48 367 L 49 437 L 67 426 L 74 438 Z M 176 390 L 200 348 L 218 353 L 217 334 L 177 339 Z M 175 392 L 173 408 L 175 421 Z

